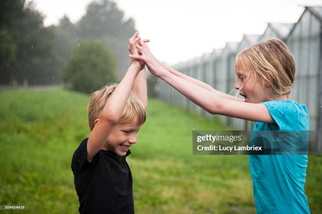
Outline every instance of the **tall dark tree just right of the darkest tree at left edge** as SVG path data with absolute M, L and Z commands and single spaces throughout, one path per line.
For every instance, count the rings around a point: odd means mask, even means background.
M 18 50 L 14 65 L 18 82 L 24 79 L 31 84 L 52 82 L 58 75 L 58 71 L 49 66 L 55 60 L 54 34 L 43 26 L 43 16 L 32 3 L 24 7 L 23 17 L 14 22 L 11 32 Z

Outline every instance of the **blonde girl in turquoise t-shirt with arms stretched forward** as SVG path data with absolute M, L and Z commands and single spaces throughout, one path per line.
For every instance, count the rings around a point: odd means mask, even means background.
M 255 121 L 251 143 L 258 139 L 254 131 L 309 130 L 306 106 L 289 100 L 295 60 L 279 39 L 256 43 L 236 56 L 235 88 L 245 99 L 219 92 L 167 67 L 143 41 L 137 49 L 141 55 L 129 57 L 142 60 L 153 75 L 209 113 Z M 265 137 L 274 140 L 273 136 Z M 249 155 L 257 213 L 310 213 L 304 194 L 307 162 L 307 154 Z

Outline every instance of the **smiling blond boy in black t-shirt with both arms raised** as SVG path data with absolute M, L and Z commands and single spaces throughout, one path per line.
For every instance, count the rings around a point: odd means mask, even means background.
M 134 55 L 139 40 L 137 33 L 129 40 Z M 131 92 L 132 86 L 145 105 Z M 146 92 L 144 64 L 131 60 L 118 85 L 92 94 L 88 105 L 91 133 L 76 149 L 71 163 L 80 213 L 134 213 L 132 174 L 125 157 L 146 120 Z

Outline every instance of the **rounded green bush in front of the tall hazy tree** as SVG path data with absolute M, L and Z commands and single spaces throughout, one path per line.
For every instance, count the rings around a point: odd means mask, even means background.
M 82 41 L 62 70 L 65 88 L 91 93 L 115 82 L 114 54 L 99 41 Z

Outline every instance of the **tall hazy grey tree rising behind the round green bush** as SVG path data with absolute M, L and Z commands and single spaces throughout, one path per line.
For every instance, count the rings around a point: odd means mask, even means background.
M 82 39 L 98 39 L 110 45 L 115 52 L 118 76 L 122 77 L 128 68 L 128 39 L 136 32 L 133 19 L 124 20 L 124 12 L 110 0 L 90 3 L 86 14 L 77 24 Z

